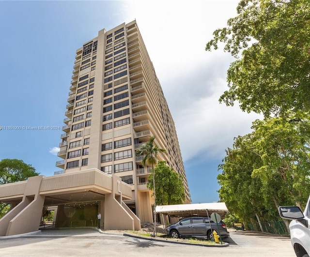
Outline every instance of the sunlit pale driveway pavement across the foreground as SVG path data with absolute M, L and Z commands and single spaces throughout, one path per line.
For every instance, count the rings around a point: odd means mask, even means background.
M 224 239 L 229 247 L 156 242 L 126 236 L 100 234 L 96 229 L 44 230 L 19 238 L 0 239 L 1 257 L 35 256 L 210 256 L 294 257 L 289 237 L 259 232 L 232 231 Z

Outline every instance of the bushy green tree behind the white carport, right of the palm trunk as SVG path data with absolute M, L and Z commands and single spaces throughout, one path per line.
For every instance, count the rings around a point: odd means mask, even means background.
M 154 191 L 153 174 L 155 174 L 155 193 L 157 205 L 182 204 L 185 200 L 183 177 L 160 161 L 149 176 L 147 188 Z

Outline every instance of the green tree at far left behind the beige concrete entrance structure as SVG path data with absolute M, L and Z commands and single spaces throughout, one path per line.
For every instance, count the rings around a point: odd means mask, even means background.
M 27 180 L 29 177 L 37 176 L 35 168 L 22 160 L 3 159 L 0 161 L 0 184 L 13 183 Z M 0 218 L 9 210 L 7 203 L 0 203 Z

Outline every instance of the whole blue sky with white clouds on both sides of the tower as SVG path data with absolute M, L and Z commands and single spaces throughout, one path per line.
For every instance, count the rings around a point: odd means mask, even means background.
M 76 49 L 136 18 L 175 121 L 192 201 L 217 201 L 225 149 L 259 118 L 218 103 L 233 58 L 204 51 L 237 2 L 0 1 L 0 126 L 17 126 L 0 131 L 0 159 L 21 159 L 45 176 L 59 170 L 52 150 L 61 142 Z M 19 130 L 27 126 L 56 129 Z

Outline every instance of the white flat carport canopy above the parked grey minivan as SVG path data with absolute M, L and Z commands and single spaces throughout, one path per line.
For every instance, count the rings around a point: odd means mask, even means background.
M 207 217 L 217 212 L 221 218 L 228 212 L 225 203 L 193 203 L 175 205 L 157 205 L 155 212 L 170 215 L 171 217 Z

